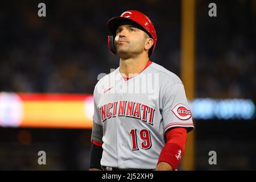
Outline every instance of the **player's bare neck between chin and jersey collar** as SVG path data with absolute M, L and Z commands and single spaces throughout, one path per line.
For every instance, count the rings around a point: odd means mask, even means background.
M 120 58 L 120 73 L 127 78 L 133 77 L 136 74 L 141 73 L 148 60 L 148 56 L 138 56 L 129 59 Z

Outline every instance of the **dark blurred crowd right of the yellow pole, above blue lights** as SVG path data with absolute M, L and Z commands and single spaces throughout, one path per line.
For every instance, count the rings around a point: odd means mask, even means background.
M 256 1 L 217 1 L 216 5 L 215 18 L 197 11 L 196 93 L 255 100 Z

